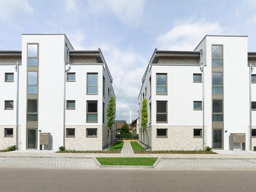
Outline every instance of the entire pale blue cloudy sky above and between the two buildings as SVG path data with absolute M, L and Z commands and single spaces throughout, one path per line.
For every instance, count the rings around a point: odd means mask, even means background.
M 22 33 L 65 33 L 76 50 L 101 48 L 116 119 L 129 122 L 155 48 L 193 51 L 205 35 L 248 35 L 256 52 L 255 10 L 256 0 L 0 0 L 0 50 L 20 50 Z

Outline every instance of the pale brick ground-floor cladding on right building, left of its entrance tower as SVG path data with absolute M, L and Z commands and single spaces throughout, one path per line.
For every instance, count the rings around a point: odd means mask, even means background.
M 156 129 L 167 129 L 168 138 L 156 138 Z M 152 150 L 199 150 L 203 149 L 203 138 L 194 138 L 193 129 L 202 126 L 152 126 Z M 203 130 L 202 130 L 203 132 Z M 204 127 L 204 142 L 207 138 L 207 127 Z

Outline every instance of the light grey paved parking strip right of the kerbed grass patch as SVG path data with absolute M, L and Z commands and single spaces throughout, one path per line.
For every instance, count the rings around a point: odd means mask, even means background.
M 256 168 L 256 160 L 230 159 L 161 159 L 156 168 L 172 169 L 215 169 L 215 168 Z

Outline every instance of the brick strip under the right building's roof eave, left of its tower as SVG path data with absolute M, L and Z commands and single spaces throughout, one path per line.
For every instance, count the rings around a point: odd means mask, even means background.
M 162 65 L 199 65 L 198 58 L 167 58 L 167 57 L 160 57 L 159 64 Z

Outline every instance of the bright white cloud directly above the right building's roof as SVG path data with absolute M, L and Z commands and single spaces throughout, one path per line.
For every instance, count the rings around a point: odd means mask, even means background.
M 167 33 L 156 39 L 159 50 L 193 51 L 205 35 L 220 35 L 223 28 L 218 22 L 176 23 Z

